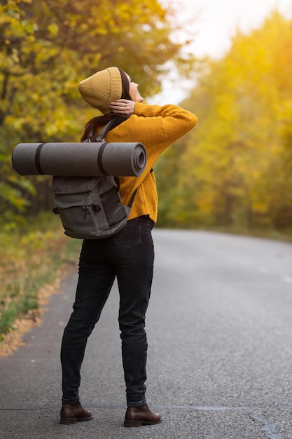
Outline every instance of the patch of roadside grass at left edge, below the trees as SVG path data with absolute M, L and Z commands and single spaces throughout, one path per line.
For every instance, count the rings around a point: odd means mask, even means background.
M 17 318 L 39 312 L 39 290 L 76 262 L 80 240 L 64 235 L 60 219 L 40 215 L 22 230 L 0 232 L 0 342 Z

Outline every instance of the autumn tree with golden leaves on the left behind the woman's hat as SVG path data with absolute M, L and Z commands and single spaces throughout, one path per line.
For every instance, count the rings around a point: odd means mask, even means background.
M 0 208 L 8 219 L 26 208 L 29 193 L 44 181 L 15 175 L 13 147 L 77 141 L 96 115 L 77 84 L 98 69 L 125 69 L 146 97 L 160 90 L 168 60 L 190 69 L 193 57 L 172 41 L 173 30 L 169 11 L 153 0 L 1 2 Z

